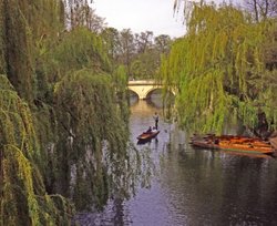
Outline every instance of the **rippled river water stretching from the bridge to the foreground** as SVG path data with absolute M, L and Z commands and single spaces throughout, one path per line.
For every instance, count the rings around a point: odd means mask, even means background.
M 185 133 L 164 122 L 161 107 L 138 101 L 131 111 L 131 141 L 153 165 L 146 183 L 129 201 L 85 214 L 81 225 L 277 225 L 277 160 L 194 150 Z M 155 111 L 161 133 L 137 145 L 136 136 L 154 125 Z

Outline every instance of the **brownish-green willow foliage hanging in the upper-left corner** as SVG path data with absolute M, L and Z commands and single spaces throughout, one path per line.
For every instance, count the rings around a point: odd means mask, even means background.
M 35 99 L 35 61 L 44 39 L 57 35 L 62 24 L 62 6 L 55 0 L 0 1 L 0 69 L 29 103 Z

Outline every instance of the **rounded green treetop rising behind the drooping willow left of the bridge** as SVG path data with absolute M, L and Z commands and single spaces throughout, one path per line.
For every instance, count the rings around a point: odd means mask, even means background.
M 45 56 L 49 62 L 47 73 L 51 82 L 59 81 L 68 72 L 83 68 L 95 72 L 110 71 L 110 62 L 101 38 L 86 28 L 64 32 L 60 43 Z

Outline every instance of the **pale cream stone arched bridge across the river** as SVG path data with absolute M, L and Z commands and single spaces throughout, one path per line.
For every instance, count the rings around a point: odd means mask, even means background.
M 163 85 L 157 84 L 154 80 L 135 80 L 129 81 L 129 90 L 138 95 L 138 99 L 147 99 L 148 94 L 157 89 L 162 89 Z

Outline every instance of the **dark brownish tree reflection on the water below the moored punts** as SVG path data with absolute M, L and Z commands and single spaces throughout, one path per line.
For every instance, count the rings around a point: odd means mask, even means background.
M 204 150 L 179 152 L 172 147 L 161 156 L 161 168 L 164 187 L 175 189 L 175 196 L 183 197 L 189 205 L 184 207 L 187 225 L 276 223 L 276 208 L 270 206 L 277 204 L 277 164 L 270 157 Z M 168 178 L 174 184 L 167 183 Z M 183 206 L 183 203 L 176 205 Z M 201 222 L 198 213 L 204 216 Z

